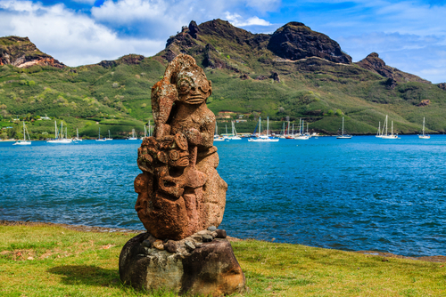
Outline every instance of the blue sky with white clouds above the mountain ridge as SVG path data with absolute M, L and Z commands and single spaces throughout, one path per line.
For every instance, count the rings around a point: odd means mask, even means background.
M 446 0 L 0 0 L 0 36 L 29 36 L 69 66 L 151 56 L 190 20 L 217 18 L 252 33 L 300 21 L 354 61 L 377 52 L 387 65 L 446 82 Z

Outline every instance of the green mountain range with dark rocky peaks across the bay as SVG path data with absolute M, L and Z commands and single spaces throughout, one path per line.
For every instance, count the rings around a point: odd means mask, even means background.
M 0 52 L 7 52 L 3 44 L 11 52 L 14 38 L 0 38 Z M 180 52 L 192 55 L 211 79 L 208 106 L 220 128 L 243 117 L 247 122 L 236 124 L 237 131 L 252 132 L 258 116 L 269 116 L 277 131 L 287 119 L 296 126 L 304 118 L 311 131 L 336 133 L 345 116 L 348 132 L 376 133 L 389 115 L 397 132 L 419 132 L 424 116 L 429 132 L 446 130 L 444 84 L 389 67 L 376 53 L 352 63 L 334 40 L 298 22 L 266 35 L 224 20 L 192 21 L 149 58 L 131 54 L 78 68 L 0 60 L 0 123 L 46 114 L 66 121 L 69 133 L 79 128 L 90 137 L 99 127 L 121 137 L 132 128 L 142 132 L 151 118 L 151 87 Z M 43 138 L 53 126 L 36 120 L 29 130 Z M 19 126 L 8 130 L 10 136 L 12 131 Z

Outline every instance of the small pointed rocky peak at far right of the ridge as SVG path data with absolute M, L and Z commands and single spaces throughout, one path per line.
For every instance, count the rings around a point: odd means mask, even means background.
M 418 82 L 418 83 L 431 84 L 431 82 L 419 76 L 414 76 L 409 73 L 403 72 L 397 68 L 392 68 L 390 66 L 385 65 L 384 60 L 379 58 L 379 55 L 376 52 L 370 53 L 366 57 L 366 59 L 360 60 L 359 62 L 356 62 L 356 64 L 360 68 L 364 68 L 369 71 L 375 72 L 376 74 L 384 76 L 385 78 L 390 78 L 397 83 Z

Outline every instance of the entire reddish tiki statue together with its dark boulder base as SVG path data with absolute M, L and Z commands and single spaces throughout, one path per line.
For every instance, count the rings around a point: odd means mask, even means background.
M 180 54 L 152 88 L 153 137 L 138 148 L 135 209 L 146 233 L 120 253 L 120 279 L 146 290 L 221 296 L 244 291 L 245 277 L 225 230 L 227 183 L 213 146 L 211 95 L 194 58 Z

